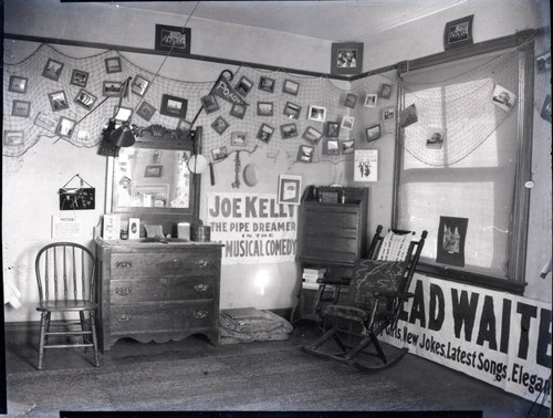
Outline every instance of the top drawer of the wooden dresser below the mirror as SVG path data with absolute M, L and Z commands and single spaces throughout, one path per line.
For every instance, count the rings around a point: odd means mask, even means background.
M 148 278 L 161 275 L 213 274 L 219 261 L 201 253 L 114 253 L 112 278 Z

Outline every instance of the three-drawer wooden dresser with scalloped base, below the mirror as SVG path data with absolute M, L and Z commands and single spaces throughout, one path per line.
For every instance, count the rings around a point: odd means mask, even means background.
M 219 342 L 221 243 L 96 240 L 98 343 L 204 334 Z

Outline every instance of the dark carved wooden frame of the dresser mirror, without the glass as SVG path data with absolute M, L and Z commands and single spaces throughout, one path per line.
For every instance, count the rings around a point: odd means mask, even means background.
M 175 149 L 189 150 L 195 154 L 196 130 L 168 130 L 161 125 L 150 125 L 145 128 L 133 127 L 136 142 L 133 147 L 150 149 Z M 107 157 L 107 185 L 106 185 L 106 213 L 119 215 L 121 222 L 127 222 L 128 218 L 140 219 L 140 238 L 146 237 L 145 224 L 161 224 L 164 234 L 177 237 L 177 224 L 199 222 L 199 196 L 201 175 L 191 173 L 190 181 L 190 206 L 188 208 L 139 208 L 123 207 L 114 208 L 116 201 L 114 194 L 114 169 L 115 158 Z

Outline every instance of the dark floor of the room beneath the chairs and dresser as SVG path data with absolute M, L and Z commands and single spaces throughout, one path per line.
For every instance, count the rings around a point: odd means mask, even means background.
M 43 370 L 35 368 L 35 338 L 7 335 L 9 416 L 58 417 L 60 409 L 550 416 L 546 408 L 410 354 L 369 376 L 300 352 L 317 334 L 301 325 L 289 341 L 220 346 L 202 336 L 165 344 L 122 339 L 101 356 L 100 368 L 91 353 L 54 349 L 46 352 Z

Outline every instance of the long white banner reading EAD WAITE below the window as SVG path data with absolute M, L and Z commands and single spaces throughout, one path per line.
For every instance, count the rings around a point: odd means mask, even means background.
M 416 275 L 383 341 L 551 407 L 551 304 Z

